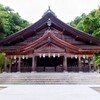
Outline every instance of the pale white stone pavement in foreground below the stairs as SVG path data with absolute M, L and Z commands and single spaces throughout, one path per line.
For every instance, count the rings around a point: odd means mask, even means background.
M 0 85 L 0 100 L 100 100 L 100 85 Z

